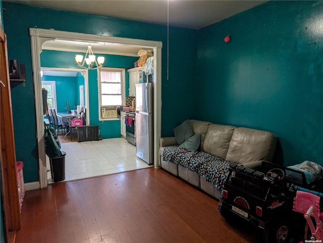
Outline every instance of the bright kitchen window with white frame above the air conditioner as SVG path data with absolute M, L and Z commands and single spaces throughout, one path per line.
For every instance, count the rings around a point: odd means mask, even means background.
M 125 69 L 101 68 L 98 69 L 99 89 L 99 120 L 102 119 L 104 107 L 117 107 L 123 105 Z

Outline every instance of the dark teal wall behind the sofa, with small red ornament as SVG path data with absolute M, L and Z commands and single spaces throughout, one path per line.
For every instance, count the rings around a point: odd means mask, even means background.
M 270 1 L 199 30 L 198 117 L 273 132 L 276 162 L 323 164 L 322 13 L 320 1 Z

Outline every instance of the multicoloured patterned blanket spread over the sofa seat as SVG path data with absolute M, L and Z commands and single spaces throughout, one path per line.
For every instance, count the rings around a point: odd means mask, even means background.
M 189 152 L 178 146 L 168 146 L 163 151 L 165 161 L 182 165 L 199 173 L 203 178 L 222 192 L 224 181 L 229 173 L 229 161 L 202 151 Z

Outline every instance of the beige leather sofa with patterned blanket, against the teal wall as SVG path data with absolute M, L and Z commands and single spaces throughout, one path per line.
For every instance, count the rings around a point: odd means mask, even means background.
M 200 151 L 217 156 L 221 161 L 236 162 L 254 168 L 260 165 L 261 160 L 271 162 L 273 159 L 277 137 L 270 132 L 212 124 L 200 120 L 190 120 L 190 124 L 193 135 L 201 134 Z M 203 174 L 193 171 L 188 166 L 165 160 L 163 152 L 167 146 L 177 145 L 175 137 L 161 138 L 159 144 L 159 164 L 163 169 L 219 199 L 222 189 L 207 181 Z M 195 153 L 203 154 L 202 152 Z M 223 166 L 228 165 L 223 163 Z M 213 172 L 217 173 L 217 171 Z

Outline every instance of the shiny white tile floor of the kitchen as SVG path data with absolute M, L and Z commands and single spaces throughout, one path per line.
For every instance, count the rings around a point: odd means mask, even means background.
M 65 156 L 65 180 L 114 174 L 152 167 L 136 156 L 136 147 L 123 138 L 62 143 Z M 50 168 L 49 164 L 47 168 Z M 48 184 L 53 183 L 50 171 Z

